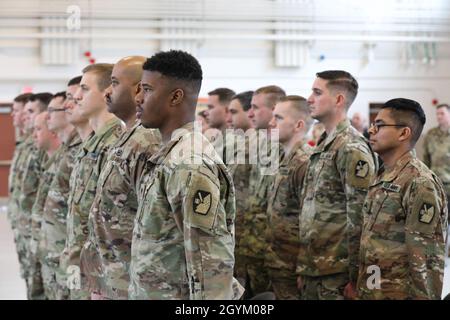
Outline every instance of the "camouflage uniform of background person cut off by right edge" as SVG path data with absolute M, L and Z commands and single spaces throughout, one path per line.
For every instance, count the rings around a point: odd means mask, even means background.
M 445 194 L 450 197 L 450 129 L 431 129 L 425 135 L 423 146 L 423 162 L 441 179 Z

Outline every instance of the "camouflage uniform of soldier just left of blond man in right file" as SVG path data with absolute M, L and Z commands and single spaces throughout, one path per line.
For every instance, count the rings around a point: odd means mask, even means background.
M 258 136 L 259 156 L 276 147 L 261 132 Z M 252 137 L 249 138 L 252 139 Z M 278 156 L 280 156 L 280 153 L 278 153 Z M 270 287 L 269 275 L 267 268 L 264 266 L 264 257 L 268 248 L 265 233 L 269 191 L 275 179 L 275 172 L 269 174 L 265 172 L 267 169 L 268 167 L 261 162 L 251 164 L 249 195 L 245 204 L 246 209 L 242 219 L 242 233 L 239 240 L 240 262 L 243 265 L 246 277 L 245 298 L 251 298 L 267 291 Z

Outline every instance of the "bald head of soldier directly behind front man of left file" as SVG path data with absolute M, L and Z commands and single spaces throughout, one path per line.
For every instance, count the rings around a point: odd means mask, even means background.
M 120 59 L 111 74 L 111 86 L 106 90 L 108 111 L 124 122 L 136 117 L 135 97 L 142 77 L 145 57 L 130 56 Z

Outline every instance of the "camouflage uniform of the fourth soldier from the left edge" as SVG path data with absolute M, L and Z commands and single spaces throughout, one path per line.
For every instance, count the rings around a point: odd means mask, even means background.
M 50 183 L 43 209 L 42 238 L 39 244 L 42 260 L 42 279 L 45 295 L 50 300 L 66 300 L 69 291 L 59 258 L 66 241 L 66 217 L 68 211 L 69 179 L 80 151 L 81 138 L 74 130 L 62 144 L 62 155 L 56 174 Z

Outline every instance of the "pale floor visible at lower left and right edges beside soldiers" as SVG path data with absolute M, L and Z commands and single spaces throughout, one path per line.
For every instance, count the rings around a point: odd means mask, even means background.
M 446 261 L 442 297 L 450 293 L 450 259 Z M 0 300 L 25 300 L 25 281 L 19 275 L 14 238 L 6 217 L 6 200 L 0 198 Z

